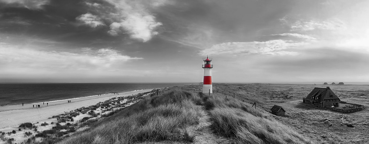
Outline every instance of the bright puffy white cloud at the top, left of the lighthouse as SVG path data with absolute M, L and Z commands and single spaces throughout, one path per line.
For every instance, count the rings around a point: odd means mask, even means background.
M 108 34 L 118 36 L 128 34 L 132 39 L 149 41 L 158 35 L 156 31 L 162 22 L 156 21 L 151 10 L 166 4 L 166 0 L 104 0 L 109 4 L 86 3 L 99 11 L 99 17 L 108 21 Z

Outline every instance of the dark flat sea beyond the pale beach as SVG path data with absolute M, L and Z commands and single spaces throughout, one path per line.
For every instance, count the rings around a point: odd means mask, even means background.
M 192 83 L 0 83 L 0 106 L 59 101 Z

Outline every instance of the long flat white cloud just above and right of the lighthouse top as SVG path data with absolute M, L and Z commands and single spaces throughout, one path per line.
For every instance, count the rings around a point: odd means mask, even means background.
M 270 40 L 265 42 L 225 42 L 213 45 L 209 49 L 201 50 L 200 55 L 227 55 L 227 54 L 268 54 L 268 55 L 296 55 L 296 52 L 283 51 L 307 45 L 306 42 L 290 40 Z

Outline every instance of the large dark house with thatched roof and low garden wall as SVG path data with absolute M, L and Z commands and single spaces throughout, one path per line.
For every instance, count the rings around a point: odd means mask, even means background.
M 324 108 L 325 106 L 339 106 L 339 101 L 341 101 L 337 95 L 329 88 L 314 88 L 303 98 L 304 103 L 310 103 L 317 105 L 318 107 Z

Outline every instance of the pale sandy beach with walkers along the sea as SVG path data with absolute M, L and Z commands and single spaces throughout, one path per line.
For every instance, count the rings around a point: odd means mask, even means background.
M 34 123 L 46 120 L 49 117 L 62 114 L 81 108 L 83 106 L 95 105 L 98 102 L 106 101 L 113 97 L 136 95 L 142 92 L 149 92 L 152 89 L 143 89 L 130 92 L 121 92 L 118 94 L 106 94 L 100 96 L 91 96 L 85 98 L 71 99 L 68 103 L 68 99 L 62 101 L 48 102 L 48 106 L 40 103 L 16 105 L 16 106 L 1 106 L 0 107 L 0 129 L 6 127 L 18 126 L 21 123 Z M 35 105 L 35 108 L 32 107 Z M 40 105 L 40 108 L 36 108 L 36 105 Z

